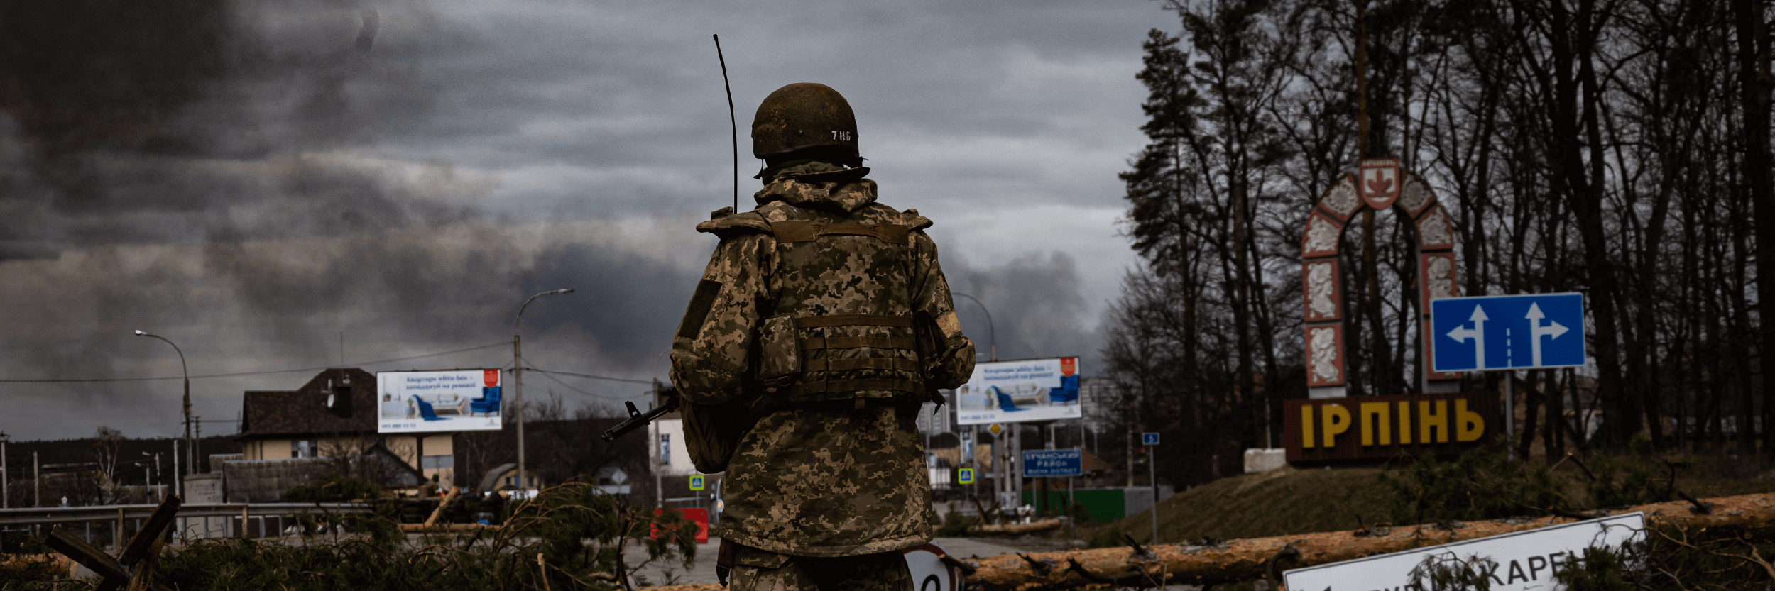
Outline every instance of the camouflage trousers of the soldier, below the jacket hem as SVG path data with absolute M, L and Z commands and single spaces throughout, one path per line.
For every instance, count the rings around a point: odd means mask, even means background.
M 905 591 L 912 571 L 895 552 L 809 557 L 737 545 L 731 591 Z

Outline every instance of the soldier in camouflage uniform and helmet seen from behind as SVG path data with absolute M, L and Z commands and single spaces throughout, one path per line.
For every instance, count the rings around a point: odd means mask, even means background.
M 721 245 L 673 339 L 687 449 L 726 470 L 717 568 L 735 589 L 911 589 L 934 534 L 914 426 L 973 374 L 930 220 L 875 202 L 850 103 L 818 83 L 753 117 L 758 208 Z M 726 580 L 722 580 L 726 582 Z

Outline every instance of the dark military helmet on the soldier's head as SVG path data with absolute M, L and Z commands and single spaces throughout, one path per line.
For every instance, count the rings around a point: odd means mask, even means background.
M 753 156 L 772 158 L 809 147 L 857 156 L 857 115 L 838 91 L 799 82 L 770 92 L 753 115 Z

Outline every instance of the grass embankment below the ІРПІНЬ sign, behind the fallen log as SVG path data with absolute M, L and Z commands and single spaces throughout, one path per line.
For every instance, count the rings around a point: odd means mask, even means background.
M 1567 506 L 1592 506 L 1594 493 L 1589 492 L 1589 486 L 1592 486 L 1598 476 L 1587 476 L 1587 472 L 1590 469 L 1601 472 L 1601 467 L 1596 465 L 1598 460 L 1590 460 L 1590 463 L 1585 469 L 1574 461 L 1562 461 L 1550 470 L 1548 485 L 1551 485 Z M 1674 460 L 1672 465 L 1661 460 L 1628 458 L 1619 460 L 1615 476 L 1599 474 L 1599 477 L 1613 483 L 1606 486 L 1633 486 L 1628 483 L 1624 472 L 1640 467 L 1649 474 L 1649 481 L 1644 483 L 1647 488 L 1640 495 L 1644 499 L 1635 500 L 1647 502 L 1679 499 L 1676 493 L 1665 493 L 1665 490 L 1683 492 L 1699 499 L 1775 492 L 1775 481 L 1766 476 L 1720 476 L 1720 472 L 1731 472 L 1732 467 L 1741 467 L 1741 463 L 1734 458 L 1718 458 Z M 1539 465 L 1539 461 L 1532 461 L 1530 469 L 1534 465 Z M 1452 467 L 1452 463 L 1443 463 L 1443 467 Z M 1413 470 L 1422 470 L 1422 467 L 1399 467 L 1392 470 L 1392 477 L 1395 481 L 1409 481 Z M 1677 474 L 1674 486 L 1670 486 L 1668 479 L 1670 470 Z M 1434 483 L 1445 477 L 1450 476 L 1425 476 L 1424 481 Z M 1388 485 L 1386 479 L 1388 470 L 1379 467 L 1282 467 L 1269 472 L 1223 477 L 1159 502 L 1159 541 L 1266 538 L 1351 531 L 1377 524 L 1406 525 L 1413 509 L 1400 499 L 1399 488 Z M 1496 486 L 1496 483 L 1456 485 L 1456 488 L 1466 488 L 1473 493 L 1486 493 L 1487 486 Z M 1606 502 L 1598 506 L 1606 506 Z M 1519 515 L 1546 513 L 1525 509 Z M 1152 540 L 1152 513 L 1141 511 L 1104 525 L 1092 532 L 1092 541 L 1093 545 L 1111 545 L 1109 541 L 1124 545 L 1125 541 L 1120 541 L 1122 532 L 1127 532 L 1140 543 L 1148 543 Z

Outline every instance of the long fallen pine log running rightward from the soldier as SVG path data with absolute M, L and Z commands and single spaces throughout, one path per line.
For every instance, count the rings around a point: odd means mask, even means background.
M 1699 508 L 1706 506 L 1708 513 Z M 1647 504 L 1606 515 L 1645 511 L 1651 525 L 1684 531 L 1736 527 L 1752 534 L 1775 534 L 1775 495 L 1755 493 Z M 1603 516 L 1599 511 L 1592 516 Z M 1072 589 L 1104 586 L 1156 584 L 1227 584 L 1280 577 L 1283 570 L 1342 563 L 1372 554 L 1489 538 L 1512 531 L 1569 524 L 1576 518 L 1509 518 L 1470 524 L 1425 524 L 1365 531 L 1294 534 L 1255 540 L 1227 540 L 1207 545 L 1168 543 L 1157 547 L 1095 548 L 1038 554 L 1005 554 L 980 561 L 967 577 L 969 589 Z

